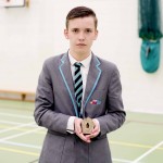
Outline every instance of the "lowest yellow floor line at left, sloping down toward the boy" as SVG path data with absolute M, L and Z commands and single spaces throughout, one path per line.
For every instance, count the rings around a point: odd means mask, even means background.
M 27 151 L 16 150 L 16 149 L 12 149 L 12 148 L 3 148 L 3 147 L 0 147 L 0 150 L 1 150 L 1 151 L 13 152 L 13 153 L 20 153 L 20 154 L 39 156 L 39 153 L 27 152 Z

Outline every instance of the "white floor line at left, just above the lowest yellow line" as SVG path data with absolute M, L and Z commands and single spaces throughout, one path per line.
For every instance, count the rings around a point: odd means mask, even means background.
M 41 146 L 34 146 L 34 145 L 27 145 L 27 143 L 18 143 L 18 142 L 13 142 L 13 141 L 1 141 L 0 143 L 11 145 L 11 146 L 17 146 L 17 147 L 25 147 L 25 148 L 33 148 L 33 149 L 41 149 Z

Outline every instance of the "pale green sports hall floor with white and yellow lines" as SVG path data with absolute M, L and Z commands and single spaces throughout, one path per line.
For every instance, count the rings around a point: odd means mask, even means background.
M 46 129 L 33 112 L 33 102 L 0 100 L 0 163 L 38 163 Z M 163 163 L 163 114 L 127 112 L 108 137 L 113 163 Z

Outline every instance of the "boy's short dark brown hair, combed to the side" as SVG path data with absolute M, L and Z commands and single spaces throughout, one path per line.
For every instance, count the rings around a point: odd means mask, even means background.
M 87 16 L 92 16 L 95 18 L 95 27 L 97 28 L 98 18 L 96 16 L 96 13 L 93 12 L 93 10 L 91 10 L 90 8 L 87 8 L 87 7 L 76 7 L 68 12 L 68 14 L 66 16 L 66 22 L 65 22 L 66 28 L 68 28 L 70 20 L 74 20 L 77 17 L 87 17 Z

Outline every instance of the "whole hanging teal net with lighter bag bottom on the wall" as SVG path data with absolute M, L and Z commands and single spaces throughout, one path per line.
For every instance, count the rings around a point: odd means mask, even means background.
M 159 68 L 162 36 L 160 0 L 139 0 L 140 59 L 142 68 L 148 73 Z

